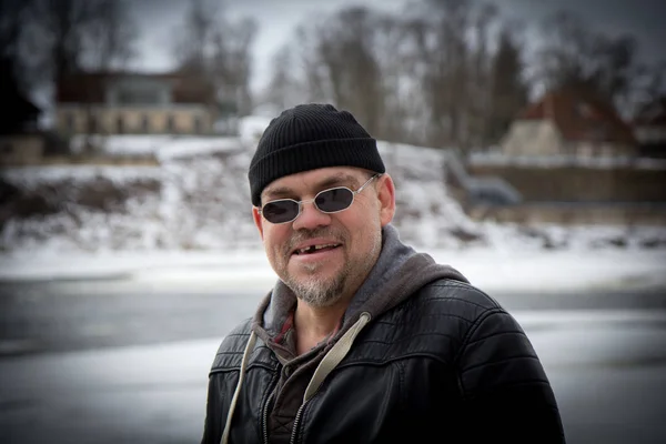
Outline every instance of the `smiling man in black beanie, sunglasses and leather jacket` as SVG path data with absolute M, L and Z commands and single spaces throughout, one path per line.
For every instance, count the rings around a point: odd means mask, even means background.
M 376 141 L 346 111 L 273 119 L 249 171 L 280 278 L 210 372 L 203 443 L 563 443 L 516 321 L 400 241 Z

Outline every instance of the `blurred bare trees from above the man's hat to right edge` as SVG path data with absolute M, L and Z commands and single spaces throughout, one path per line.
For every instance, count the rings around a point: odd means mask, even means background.
M 381 139 L 466 150 L 497 143 L 548 90 L 584 89 L 626 119 L 664 91 L 666 64 L 642 63 L 632 36 L 558 11 L 535 37 L 501 12 L 483 1 L 422 0 L 398 13 L 349 8 L 309 19 L 275 54 L 263 100 L 331 100 Z

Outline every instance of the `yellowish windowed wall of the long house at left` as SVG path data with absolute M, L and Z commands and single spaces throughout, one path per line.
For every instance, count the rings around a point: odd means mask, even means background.
M 91 122 L 90 119 L 93 119 Z M 160 108 L 62 105 L 57 110 L 58 131 L 75 133 L 175 133 L 213 132 L 213 117 L 204 105 Z M 199 122 L 199 123 L 198 123 Z

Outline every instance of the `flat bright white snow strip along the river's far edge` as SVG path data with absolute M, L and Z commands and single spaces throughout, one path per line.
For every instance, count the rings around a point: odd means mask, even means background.
M 422 250 L 488 291 L 666 290 L 664 250 Z M 275 274 L 263 250 L 226 252 L 27 252 L 0 256 L 4 280 L 101 280 L 162 291 L 265 291 Z

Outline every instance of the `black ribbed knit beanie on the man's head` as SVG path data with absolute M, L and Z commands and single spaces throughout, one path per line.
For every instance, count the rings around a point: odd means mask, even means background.
M 386 171 L 376 140 L 350 112 L 320 103 L 283 111 L 271 120 L 250 162 L 252 204 L 260 206 L 261 192 L 274 180 L 326 167 Z

